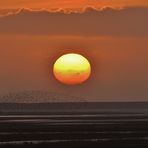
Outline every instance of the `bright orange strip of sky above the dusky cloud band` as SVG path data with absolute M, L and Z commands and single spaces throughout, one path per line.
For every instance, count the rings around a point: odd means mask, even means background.
M 0 0 L 0 8 L 82 8 L 95 7 L 123 7 L 148 6 L 148 0 Z

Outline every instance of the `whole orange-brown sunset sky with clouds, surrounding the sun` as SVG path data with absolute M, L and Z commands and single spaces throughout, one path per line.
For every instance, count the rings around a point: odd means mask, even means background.
M 0 0 L 0 95 L 41 90 L 148 101 L 147 18 L 147 0 Z M 55 60 L 70 52 L 92 65 L 81 85 L 53 76 Z

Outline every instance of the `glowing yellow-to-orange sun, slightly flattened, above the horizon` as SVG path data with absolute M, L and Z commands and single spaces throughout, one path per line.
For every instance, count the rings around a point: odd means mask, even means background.
M 84 56 L 68 53 L 56 60 L 53 73 L 55 78 L 63 84 L 81 84 L 90 77 L 91 65 Z

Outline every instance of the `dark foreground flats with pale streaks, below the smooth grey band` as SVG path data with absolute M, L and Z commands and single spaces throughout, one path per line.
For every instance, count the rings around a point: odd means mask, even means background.
M 148 148 L 146 110 L 107 109 L 53 109 L 45 114 L 3 110 L 0 148 Z

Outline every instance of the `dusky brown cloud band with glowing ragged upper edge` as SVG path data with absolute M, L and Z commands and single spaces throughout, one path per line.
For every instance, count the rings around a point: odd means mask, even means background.
M 25 35 L 148 36 L 148 8 L 86 9 L 83 13 L 21 10 L 0 18 L 0 33 Z

